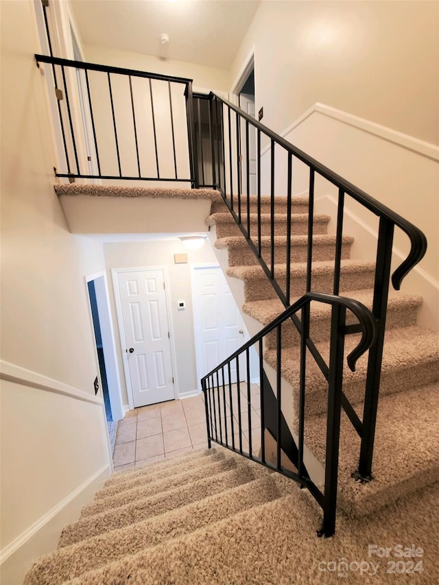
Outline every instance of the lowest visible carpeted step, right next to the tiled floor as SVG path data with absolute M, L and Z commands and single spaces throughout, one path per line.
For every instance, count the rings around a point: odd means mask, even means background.
M 180 466 L 182 468 L 196 468 L 208 464 L 210 457 L 219 460 L 224 457 L 224 453 L 219 448 L 214 447 L 212 449 L 198 449 L 193 451 L 193 453 L 184 453 L 181 457 L 176 457 L 175 459 L 165 459 L 142 467 L 117 471 L 106 480 L 104 488 L 114 486 L 116 483 L 125 483 L 137 477 L 145 478 L 147 476 L 150 481 L 154 481 L 155 479 L 176 473 L 176 470 Z

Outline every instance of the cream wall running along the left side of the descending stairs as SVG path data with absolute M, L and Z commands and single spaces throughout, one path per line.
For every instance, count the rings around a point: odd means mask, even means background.
M 1 2 L 1 580 L 14 584 L 110 473 L 84 283 L 102 244 L 69 233 L 54 193 L 39 51 L 32 2 Z

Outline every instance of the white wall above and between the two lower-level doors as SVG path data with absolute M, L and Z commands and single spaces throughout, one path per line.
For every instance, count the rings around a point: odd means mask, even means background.
M 174 329 L 174 343 L 176 348 L 176 382 L 178 394 L 193 392 L 198 387 L 195 369 L 195 348 L 193 339 L 193 310 L 191 292 L 191 264 L 217 262 L 209 241 L 204 243 L 200 250 L 187 250 L 178 239 L 143 242 L 113 242 L 104 243 L 108 281 L 111 278 L 112 268 L 150 267 L 167 265 L 171 296 L 171 319 Z M 174 254 L 187 254 L 187 264 L 175 264 Z M 115 310 L 114 294 L 110 294 L 112 315 L 115 322 L 116 337 L 117 314 Z M 185 311 L 178 311 L 179 300 L 186 301 Z M 117 344 L 119 371 L 123 377 L 123 361 L 121 348 Z M 121 379 L 122 401 L 128 405 L 125 379 Z

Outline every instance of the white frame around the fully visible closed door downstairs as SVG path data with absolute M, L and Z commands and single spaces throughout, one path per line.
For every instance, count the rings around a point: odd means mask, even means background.
M 172 376 L 174 377 L 174 400 L 178 398 L 178 373 L 177 373 L 177 359 L 176 359 L 176 348 L 175 348 L 175 335 L 174 335 L 174 322 L 172 321 L 172 313 L 171 313 L 171 290 L 169 288 L 169 276 L 167 272 L 167 266 L 132 266 L 130 268 L 112 268 L 111 269 L 111 277 L 112 277 L 112 288 L 115 295 L 115 307 L 116 307 L 116 316 L 117 316 L 117 325 L 119 326 L 119 339 L 120 339 L 120 349 L 121 349 L 121 358 L 123 363 L 123 374 L 125 376 L 125 383 L 126 383 L 126 393 L 128 396 L 128 407 L 130 410 L 134 409 L 134 398 L 132 396 L 132 385 L 131 385 L 131 377 L 130 377 L 130 366 L 128 364 L 128 354 L 123 348 L 126 348 L 126 337 L 125 337 L 125 329 L 123 326 L 123 317 L 122 317 L 122 303 L 121 303 L 121 296 L 119 294 L 119 280 L 117 278 L 118 274 L 121 272 L 147 272 L 149 270 L 163 270 L 163 280 L 165 281 L 165 298 L 166 298 L 166 316 L 167 316 L 167 325 L 169 328 L 169 347 L 171 350 L 171 366 L 172 366 Z

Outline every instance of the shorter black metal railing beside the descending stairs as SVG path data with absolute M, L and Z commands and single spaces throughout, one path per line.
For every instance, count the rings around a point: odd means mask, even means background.
M 324 490 L 311 480 L 305 465 L 305 408 L 307 403 L 307 343 L 309 338 L 309 309 L 311 302 L 331 305 L 331 342 L 329 363 L 317 348 L 313 346 L 311 356 L 316 361 L 328 383 L 327 399 L 327 433 L 326 457 L 324 464 Z M 346 325 L 346 310 L 352 311 L 359 321 L 359 326 Z M 292 316 L 301 313 L 300 375 L 298 377 L 299 401 L 298 431 L 296 440 L 285 420 L 282 410 L 283 352 L 282 327 Z M 364 305 L 356 300 L 331 294 L 309 292 L 286 309 L 272 323 L 244 344 L 233 355 L 206 374 L 201 380 L 206 407 L 206 423 L 209 448 L 216 442 L 236 453 L 240 453 L 265 467 L 298 481 L 309 489 L 323 510 L 322 528 L 318 534 L 332 536 L 335 531 L 335 511 L 337 503 L 337 474 L 340 442 L 340 415 L 343 394 L 344 339 L 346 335 L 361 331 L 359 343 L 347 357 L 351 370 L 361 355 L 374 343 L 377 335 L 376 320 Z M 274 332 L 276 335 L 276 390 L 268 381 L 263 365 L 263 346 L 266 337 Z M 253 352 L 252 348 L 256 351 Z M 250 352 L 252 358 L 250 357 Z M 254 358 L 256 356 L 256 358 Z M 259 384 L 257 394 L 251 383 L 251 371 L 255 371 L 257 359 Z M 245 380 L 243 382 L 243 380 Z M 243 390 L 244 389 L 244 390 Z M 257 410 L 260 409 L 260 421 Z M 244 429 L 247 430 L 246 435 Z M 255 430 L 257 429 L 257 430 Z M 254 431 L 254 433 L 253 433 Z M 274 457 L 270 449 L 265 448 L 266 433 L 270 433 L 276 442 Z M 248 443 L 246 442 L 248 441 Z M 256 446 L 257 444 L 257 446 Z M 257 449 L 259 453 L 255 453 Z M 256 446 L 256 449 L 255 449 Z M 285 457 L 296 468 L 285 465 Z

